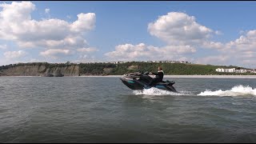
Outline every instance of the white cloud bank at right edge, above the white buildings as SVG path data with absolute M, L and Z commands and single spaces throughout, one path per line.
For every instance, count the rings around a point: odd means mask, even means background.
M 218 50 L 219 54 L 198 58 L 198 63 L 222 64 L 255 67 L 256 61 L 256 30 L 243 31 L 234 41 L 205 42 L 203 46 Z

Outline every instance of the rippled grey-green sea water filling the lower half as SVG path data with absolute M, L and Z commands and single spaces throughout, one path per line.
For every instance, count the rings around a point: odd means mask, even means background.
M 0 77 L 0 142 L 256 142 L 256 79 Z

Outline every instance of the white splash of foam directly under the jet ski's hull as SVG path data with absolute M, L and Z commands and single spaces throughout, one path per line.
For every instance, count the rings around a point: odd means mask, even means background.
M 143 90 L 134 90 L 133 93 L 135 95 L 187 95 L 185 93 L 174 93 L 167 90 L 160 90 L 155 87 L 151 87 L 150 89 L 143 89 Z

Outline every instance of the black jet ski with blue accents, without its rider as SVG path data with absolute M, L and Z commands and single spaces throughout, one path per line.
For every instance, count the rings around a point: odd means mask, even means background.
M 151 77 L 149 75 L 149 72 L 140 73 L 130 73 L 125 74 L 122 78 L 120 78 L 122 83 L 124 83 L 126 86 L 128 86 L 131 90 L 143 90 L 143 89 L 150 89 L 151 87 L 158 88 L 160 90 L 169 90 L 172 92 L 177 92 L 174 88 L 174 81 L 162 81 L 156 83 L 154 86 L 149 86 L 149 83 L 151 81 Z

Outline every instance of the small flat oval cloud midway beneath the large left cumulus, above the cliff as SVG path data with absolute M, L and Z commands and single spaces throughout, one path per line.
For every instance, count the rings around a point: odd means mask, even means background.
M 40 54 L 44 57 L 58 58 L 58 57 L 74 54 L 74 52 L 72 50 L 51 49 L 51 50 L 43 51 Z

